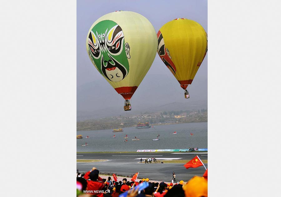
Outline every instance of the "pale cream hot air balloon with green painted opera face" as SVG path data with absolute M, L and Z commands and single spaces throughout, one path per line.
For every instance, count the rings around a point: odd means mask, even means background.
M 125 99 L 130 99 L 148 72 L 157 51 L 152 24 L 141 14 L 116 11 L 97 19 L 91 26 L 86 48 L 96 69 Z

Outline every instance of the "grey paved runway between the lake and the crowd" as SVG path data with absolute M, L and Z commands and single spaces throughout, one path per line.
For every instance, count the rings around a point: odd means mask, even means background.
M 96 167 L 100 172 L 112 172 L 131 176 L 136 172 L 139 178 L 149 178 L 156 181 L 171 181 L 172 172 L 175 171 L 176 181 L 188 181 L 193 176 L 202 176 L 204 166 L 186 169 L 183 163 L 165 163 L 166 159 L 190 160 L 198 155 L 201 160 L 208 159 L 207 152 L 166 153 L 166 152 L 136 152 L 136 153 L 77 153 L 77 159 L 108 159 L 106 162 L 81 163 L 77 162 L 79 172 L 89 171 Z M 140 158 L 156 157 L 164 163 L 144 164 L 138 163 Z M 205 164 L 208 167 L 208 164 Z

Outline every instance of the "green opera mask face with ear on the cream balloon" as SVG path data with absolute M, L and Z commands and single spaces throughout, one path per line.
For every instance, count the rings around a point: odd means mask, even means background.
M 99 72 L 112 82 L 129 73 L 130 46 L 124 43 L 121 27 L 114 21 L 97 23 L 88 35 L 89 55 Z

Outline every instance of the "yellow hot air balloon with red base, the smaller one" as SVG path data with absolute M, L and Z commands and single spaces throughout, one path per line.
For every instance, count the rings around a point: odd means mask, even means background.
M 208 50 L 208 35 L 197 22 L 177 18 L 163 25 L 157 33 L 157 52 L 185 90 L 192 83 Z

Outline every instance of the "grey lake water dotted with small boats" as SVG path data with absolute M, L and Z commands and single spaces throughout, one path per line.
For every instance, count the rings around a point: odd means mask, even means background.
M 77 131 L 77 135 L 83 135 L 82 139 L 76 139 L 77 152 L 100 151 L 137 151 L 140 149 L 188 149 L 208 148 L 208 123 L 184 123 L 155 125 L 155 129 L 136 129 L 135 127 L 123 128 L 123 132 L 112 132 L 113 129 Z M 119 129 L 119 128 L 116 128 Z M 172 134 L 174 131 L 177 134 Z M 190 136 L 190 132 L 193 136 Z M 112 136 L 115 134 L 115 138 Z M 128 135 L 128 142 L 123 142 Z M 158 141 L 152 141 L 157 135 Z M 86 136 L 89 139 L 86 139 Z M 132 139 L 139 138 L 138 141 Z M 81 146 L 81 144 L 89 144 Z

